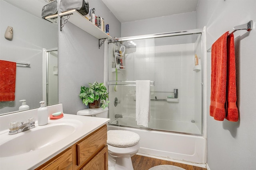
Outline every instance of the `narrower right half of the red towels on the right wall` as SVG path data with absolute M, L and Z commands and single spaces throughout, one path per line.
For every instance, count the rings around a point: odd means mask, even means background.
M 227 40 L 227 100 L 226 119 L 238 121 L 236 107 L 236 58 L 234 47 L 234 34 L 228 35 Z

